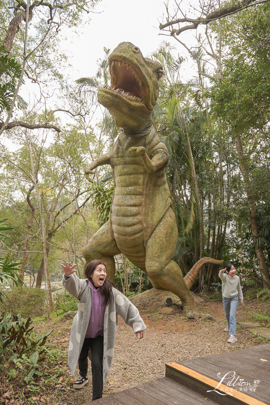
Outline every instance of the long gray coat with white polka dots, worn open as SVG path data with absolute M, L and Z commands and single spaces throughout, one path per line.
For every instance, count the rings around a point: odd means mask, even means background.
M 80 297 L 78 312 L 74 316 L 69 338 L 68 366 L 73 375 L 76 371 L 91 314 L 91 289 L 86 288 L 86 284 L 85 279 L 82 280 L 75 274 L 72 274 L 67 280 L 63 277 L 64 288 L 76 299 Z M 134 333 L 146 329 L 138 309 L 129 299 L 115 288 L 112 289 L 112 292 L 114 300 L 106 306 L 104 313 L 103 384 L 112 362 L 118 315 L 122 316 L 127 325 L 133 328 Z

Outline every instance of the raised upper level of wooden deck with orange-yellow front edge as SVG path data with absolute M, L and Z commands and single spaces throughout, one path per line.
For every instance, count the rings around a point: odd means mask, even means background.
M 209 398 L 220 404 L 270 405 L 270 344 L 166 365 L 167 377 L 201 394 L 214 390 L 225 375 L 222 385 L 215 390 L 219 393 L 208 392 Z M 257 387 L 250 389 L 256 380 L 259 380 Z

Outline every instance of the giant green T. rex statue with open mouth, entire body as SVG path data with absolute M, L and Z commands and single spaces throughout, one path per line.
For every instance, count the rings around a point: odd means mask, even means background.
M 123 253 L 142 269 L 154 288 L 177 295 L 186 312 L 195 311 L 189 288 L 202 264 L 222 263 L 201 259 L 185 279 L 172 260 L 177 224 L 166 178 L 169 154 L 153 127 L 153 108 L 159 95 L 163 67 L 143 58 L 139 48 L 121 43 L 109 56 L 111 85 L 99 88 L 98 101 L 113 116 L 121 132 L 112 149 L 85 169 L 86 178 L 98 166 L 110 165 L 114 194 L 110 217 L 83 249 L 87 262 L 101 259 L 113 281 L 114 255 Z M 186 280 L 186 282 L 185 282 Z

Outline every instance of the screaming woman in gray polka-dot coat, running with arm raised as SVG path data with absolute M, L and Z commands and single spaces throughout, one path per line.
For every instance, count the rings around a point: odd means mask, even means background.
M 75 374 L 78 363 L 80 377 L 73 388 L 81 389 L 88 383 L 88 355 L 91 358 L 93 397 L 102 397 L 103 385 L 108 375 L 114 349 L 118 315 L 133 328 L 136 336 L 143 338 L 146 326 L 138 309 L 106 278 L 106 265 L 93 260 L 86 267 L 87 279 L 76 276 L 75 265 L 66 262 L 63 286 L 76 299 L 75 315 L 69 339 L 68 366 Z

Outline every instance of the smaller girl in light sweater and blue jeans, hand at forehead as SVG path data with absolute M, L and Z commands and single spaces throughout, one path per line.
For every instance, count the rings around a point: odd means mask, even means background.
M 236 309 L 238 305 L 238 297 L 241 305 L 244 305 L 242 288 L 240 286 L 240 278 L 236 275 L 235 266 L 232 263 L 227 263 L 223 270 L 218 273 L 222 280 L 222 301 L 227 320 L 227 326 L 224 332 L 228 332 L 230 337 L 228 343 L 237 342 L 236 338 Z

